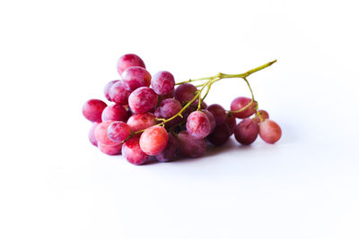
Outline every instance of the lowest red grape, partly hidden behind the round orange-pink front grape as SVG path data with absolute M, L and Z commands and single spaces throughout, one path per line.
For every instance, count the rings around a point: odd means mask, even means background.
M 140 148 L 138 136 L 130 138 L 122 145 L 122 155 L 128 162 L 134 165 L 142 165 L 148 159 L 148 155 Z

